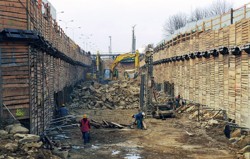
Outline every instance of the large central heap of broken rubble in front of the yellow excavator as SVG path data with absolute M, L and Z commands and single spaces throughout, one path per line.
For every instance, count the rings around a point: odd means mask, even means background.
M 139 107 L 140 88 L 136 81 L 114 81 L 101 85 L 84 82 L 78 85 L 71 95 L 71 108 L 84 109 L 131 109 Z

